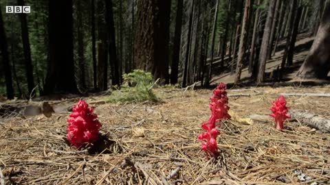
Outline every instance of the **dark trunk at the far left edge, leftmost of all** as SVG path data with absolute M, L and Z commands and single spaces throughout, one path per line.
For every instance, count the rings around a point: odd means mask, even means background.
M 3 20 L 0 7 L 0 51 L 3 63 L 3 71 L 5 71 L 5 87 L 7 90 L 7 98 L 14 99 L 14 88 L 12 88 L 12 71 L 10 69 L 10 62 L 8 56 L 7 38 L 5 38 L 5 28 L 3 27 Z

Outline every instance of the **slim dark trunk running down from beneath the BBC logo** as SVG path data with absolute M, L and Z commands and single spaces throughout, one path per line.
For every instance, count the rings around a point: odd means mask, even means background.
M 17 0 L 17 4 L 24 5 L 24 0 Z M 28 23 L 26 21 L 26 14 L 19 14 L 19 18 L 21 21 L 21 34 L 22 34 L 21 36 L 23 41 L 26 79 L 28 79 L 28 90 L 30 95 L 34 88 L 34 78 L 33 78 L 33 66 L 31 60 L 29 29 L 28 29 Z M 34 96 L 34 93 L 32 94 L 32 96 Z

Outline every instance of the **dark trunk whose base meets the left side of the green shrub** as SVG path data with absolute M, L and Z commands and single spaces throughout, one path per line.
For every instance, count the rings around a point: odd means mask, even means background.
M 109 47 L 109 61 L 111 66 L 112 85 L 120 86 L 120 70 L 118 64 L 117 50 L 115 46 L 115 24 L 113 22 L 112 0 L 105 1 L 105 20 L 107 23 L 107 36 Z

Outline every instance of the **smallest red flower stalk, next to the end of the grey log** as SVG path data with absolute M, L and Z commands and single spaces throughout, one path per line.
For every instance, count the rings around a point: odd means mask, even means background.
M 276 130 L 281 131 L 283 130 L 285 119 L 291 118 L 291 116 L 287 114 L 287 111 L 289 110 L 289 108 L 287 108 L 287 100 L 285 100 L 285 97 L 282 95 L 272 104 L 273 106 L 270 110 L 272 110 L 273 113 L 270 114 L 270 116 L 275 120 Z

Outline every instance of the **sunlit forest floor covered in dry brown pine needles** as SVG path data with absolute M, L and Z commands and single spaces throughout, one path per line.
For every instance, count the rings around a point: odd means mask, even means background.
M 160 103 L 86 97 L 101 132 L 115 141 L 114 153 L 69 147 L 63 139 L 69 114 L 2 119 L 0 184 L 329 184 L 330 134 L 296 119 L 278 132 L 267 116 L 281 93 L 329 91 L 330 86 L 228 90 L 232 119 L 221 124 L 217 160 L 206 160 L 197 140 L 210 115 L 211 90 L 157 88 Z M 77 99 L 64 101 L 74 106 Z M 329 97 L 289 96 L 287 101 L 292 110 L 330 119 Z M 244 120 L 252 114 L 265 119 Z

